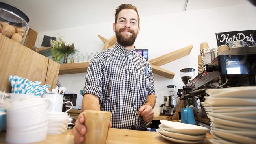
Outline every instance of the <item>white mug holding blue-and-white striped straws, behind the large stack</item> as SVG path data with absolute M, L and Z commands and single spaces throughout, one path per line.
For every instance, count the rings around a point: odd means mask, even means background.
M 15 94 L 15 93 L 11 93 L 10 94 L 10 99 L 15 102 L 15 101 L 22 101 L 22 100 L 33 100 L 33 98 L 41 98 L 40 96 L 33 96 L 33 95 L 28 95 L 28 94 Z M 47 111 L 50 111 L 50 109 L 52 108 L 53 102 L 52 99 L 50 98 L 42 98 L 42 100 L 44 100 L 46 102 L 46 107 L 47 107 Z

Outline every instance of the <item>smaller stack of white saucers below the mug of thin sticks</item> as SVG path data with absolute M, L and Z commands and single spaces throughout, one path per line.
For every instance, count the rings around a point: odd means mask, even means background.
M 69 116 L 63 112 L 48 112 L 48 134 L 61 134 L 67 132 Z

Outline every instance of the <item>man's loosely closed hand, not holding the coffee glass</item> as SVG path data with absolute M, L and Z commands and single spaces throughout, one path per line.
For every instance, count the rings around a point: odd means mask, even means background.
M 143 117 L 145 122 L 150 122 L 154 117 L 154 111 L 150 105 L 142 105 L 139 108 L 139 114 Z

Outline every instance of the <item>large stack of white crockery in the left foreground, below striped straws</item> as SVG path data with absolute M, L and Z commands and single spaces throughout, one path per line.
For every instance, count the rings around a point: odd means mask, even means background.
M 15 101 L 7 109 L 6 142 L 34 143 L 46 139 L 46 102 L 42 98 Z

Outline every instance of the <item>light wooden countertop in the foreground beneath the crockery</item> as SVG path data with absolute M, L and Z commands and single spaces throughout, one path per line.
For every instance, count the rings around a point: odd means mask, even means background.
M 6 133 L 0 133 L 0 144 L 6 144 L 4 137 Z M 210 144 L 208 141 L 212 136 L 207 133 L 206 139 L 202 144 Z M 74 144 L 74 135 L 72 130 L 60 135 L 47 135 L 46 140 L 38 142 L 37 144 Z M 150 131 L 136 131 L 128 129 L 114 129 L 110 128 L 106 144 L 173 144 L 169 140 L 165 140 L 156 132 Z

